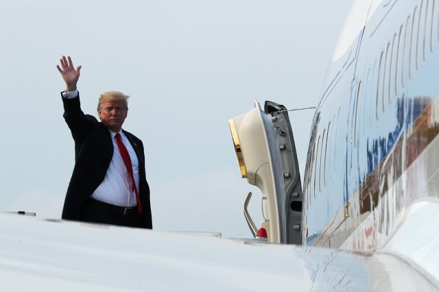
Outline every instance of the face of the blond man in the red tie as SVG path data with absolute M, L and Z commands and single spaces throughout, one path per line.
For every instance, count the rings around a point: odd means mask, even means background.
M 102 123 L 108 127 L 108 129 L 112 130 L 112 132 L 119 132 L 128 114 L 128 110 L 124 101 L 115 100 L 101 104 L 97 113 Z

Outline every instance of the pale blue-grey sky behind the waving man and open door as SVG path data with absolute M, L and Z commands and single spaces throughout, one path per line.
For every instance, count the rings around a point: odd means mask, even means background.
M 59 219 L 74 165 L 56 69 L 82 65 L 82 110 L 130 95 L 156 230 L 251 237 L 261 191 L 241 178 L 228 120 L 254 99 L 317 106 L 351 1 L 2 1 L 1 211 Z M 313 110 L 290 112 L 301 176 Z

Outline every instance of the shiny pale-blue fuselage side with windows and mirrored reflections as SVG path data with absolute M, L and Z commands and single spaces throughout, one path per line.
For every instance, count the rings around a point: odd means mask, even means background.
M 376 250 L 410 202 L 436 196 L 436 2 L 380 5 L 333 64 L 311 130 L 305 244 Z

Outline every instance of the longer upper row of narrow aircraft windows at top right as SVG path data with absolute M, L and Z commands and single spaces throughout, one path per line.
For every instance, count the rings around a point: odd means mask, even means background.
M 435 37 L 439 40 L 438 25 L 436 0 L 421 0 L 419 8 L 416 6 L 413 13 L 407 16 L 379 53 L 374 65 L 368 69 L 366 88 L 361 88 L 359 82 L 354 117 L 355 146 L 359 131 L 357 120 L 361 118 L 367 122 L 363 123 L 365 133 L 366 128 L 370 127 L 374 120 L 379 120 L 385 109 L 401 95 L 407 78 L 412 79 L 414 71 L 427 60 L 428 51 L 434 51 Z M 363 91 L 364 96 L 368 98 L 361 98 Z M 362 112 L 358 112 L 359 104 Z M 373 108 L 375 113 L 371 112 Z M 366 112 L 367 110 L 369 112 Z

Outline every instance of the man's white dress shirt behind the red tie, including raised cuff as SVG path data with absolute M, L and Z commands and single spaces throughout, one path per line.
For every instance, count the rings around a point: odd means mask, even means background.
M 64 98 L 70 99 L 78 97 L 78 90 L 71 93 L 62 93 Z M 112 145 L 114 148 L 110 165 L 104 181 L 95 189 L 91 197 L 98 201 L 112 204 L 121 207 L 134 207 L 137 205 L 136 193 L 132 191 L 132 182 L 130 174 L 128 173 L 125 162 L 121 156 L 119 146 L 116 141 L 116 132 L 108 130 L 111 134 Z M 127 136 L 120 131 L 122 142 L 130 154 L 132 173 L 134 174 L 134 181 L 136 182 L 137 190 L 139 191 L 139 160 L 136 152 L 132 147 Z

